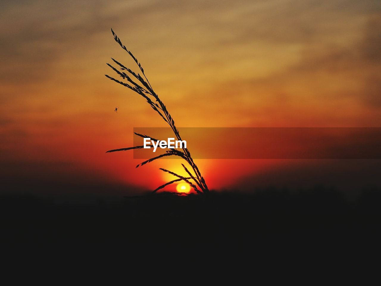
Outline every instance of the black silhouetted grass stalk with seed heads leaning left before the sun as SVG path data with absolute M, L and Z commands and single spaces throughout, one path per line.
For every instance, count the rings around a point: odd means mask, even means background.
M 105 76 L 111 80 L 114 80 L 118 84 L 121 84 L 127 88 L 130 88 L 134 92 L 138 93 L 138 95 L 142 96 L 147 101 L 147 103 L 151 106 L 151 108 L 154 109 L 154 111 L 156 111 L 160 115 L 160 117 L 162 117 L 162 119 L 171 127 L 171 129 L 172 129 L 174 135 L 176 136 L 177 140 L 182 141 L 180 134 L 179 134 L 179 131 L 176 128 L 176 125 L 174 124 L 173 117 L 168 112 L 168 110 L 166 109 L 162 100 L 160 100 L 157 93 L 154 92 L 154 89 L 152 88 L 151 84 L 149 83 L 149 80 L 147 79 L 146 75 L 144 74 L 144 69 L 141 66 L 141 64 L 139 63 L 138 59 L 135 58 L 135 56 L 131 53 L 131 51 L 127 50 L 127 48 L 122 44 L 122 42 L 120 41 L 120 39 L 117 37 L 117 35 L 114 33 L 114 31 L 112 29 L 111 29 L 111 32 L 112 32 L 112 35 L 114 35 L 115 41 L 120 45 L 120 47 L 123 48 L 123 50 L 125 50 L 131 56 L 131 58 L 138 65 L 138 67 L 142 73 L 142 76 L 139 73 L 135 73 L 134 71 L 132 71 L 128 67 L 124 66 L 123 64 L 119 63 L 118 61 L 116 61 L 113 58 L 111 58 L 111 59 L 114 61 L 115 64 L 117 64 L 119 66 L 120 70 L 118 70 L 117 68 L 115 68 L 114 66 L 112 66 L 109 63 L 107 63 L 107 65 L 109 67 L 111 67 L 120 77 L 122 77 L 122 80 L 126 80 L 128 83 L 117 80 L 113 77 L 108 76 L 107 74 Z M 157 139 L 154 139 L 148 135 L 142 135 L 142 134 L 139 134 L 136 132 L 134 132 L 134 134 L 139 136 L 139 137 L 142 137 L 142 138 L 151 138 L 151 140 L 158 141 Z M 141 149 L 143 147 L 144 146 L 134 146 L 134 147 L 128 147 L 128 148 L 113 149 L 113 150 L 107 151 L 106 153 L 115 152 L 115 151 L 132 150 L 132 149 Z M 165 154 L 161 154 L 159 156 L 153 157 L 151 159 L 148 159 L 147 161 L 142 162 L 141 164 L 137 165 L 136 168 L 139 166 L 145 165 L 149 162 L 152 162 L 156 159 L 165 157 L 165 156 L 179 156 L 179 157 L 181 157 L 191 166 L 193 174 L 191 171 L 189 171 L 187 169 L 187 167 L 184 164 L 181 164 L 181 165 L 184 168 L 184 170 L 187 172 L 189 177 L 183 177 L 183 176 L 180 176 L 174 172 L 160 168 L 160 170 L 162 170 L 163 172 L 167 172 L 167 173 L 174 175 L 175 177 L 178 177 L 178 178 L 176 180 L 170 181 L 168 183 L 165 183 L 165 184 L 159 186 L 158 188 L 156 188 L 153 191 L 154 193 L 157 190 L 164 188 L 165 186 L 168 186 L 172 183 L 179 182 L 179 181 L 184 181 L 184 182 L 188 183 L 199 194 L 209 192 L 208 186 L 205 183 L 205 179 L 202 177 L 199 168 L 197 167 L 197 165 L 193 161 L 193 159 L 191 157 L 191 153 L 189 153 L 189 150 L 187 148 L 184 148 L 184 147 L 182 148 L 182 151 L 177 150 L 177 149 L 170 149 L 170 150 L 166 151 Z M 192 183 L 190 180 L 193 180 L 195 182 L 195 184 Z

